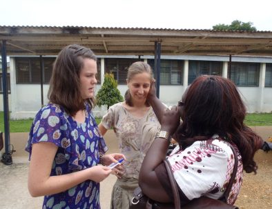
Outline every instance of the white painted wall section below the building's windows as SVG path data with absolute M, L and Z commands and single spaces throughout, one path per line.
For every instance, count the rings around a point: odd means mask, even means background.
M 97 85 L 97 90 L 101 85 Z M 127 90 L 126 85 L 118 86 L 122 96 Z M 258 87 L 240 87 L 238 88 L 242 93 L 242 98 L 246 104 L 248 112 L 271 112 L 272 111 L 272 88 L 264 88 L 264 103 L 262 110 L 259 107 L 260 88 Z M 32 118 L 36 115 L 37 111 L 41 108 L 41 88 L 39 85 L 23 85 L 18 84 L 17 97 L 11 100 L 9 94 L 9 108 L 12 110 L 10 115 L 11 119 L 26 119 Z M 12 90 L 14 92 L 14 90 Z M 48 103 L 47 97 L 48 85 L 43 85 L 43 103 Z M 159 99 L 161 99 L 166 105 L 174 106 L 177 105 L 177 101 L 182 98 L 184 92 L 184 86 L 161 86 L 159 89 Z M 3 111 L 3 97 L 1 97 L 1 111 Z M 98 108 L 93 110 L 95 116 L 102 117 L 106 112 L 106 107 Z

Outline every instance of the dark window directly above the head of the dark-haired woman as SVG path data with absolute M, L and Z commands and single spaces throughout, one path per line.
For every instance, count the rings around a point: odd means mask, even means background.
M 189 61 L 188 83 L 192 83 L 202 74 L 222 76 L 222 68 L 221 61 Z

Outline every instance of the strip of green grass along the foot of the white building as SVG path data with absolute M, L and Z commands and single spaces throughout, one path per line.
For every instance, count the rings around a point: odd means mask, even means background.
M 101 118 L 96 118 L 97 124 Z M 10 132 L 29 132 L 33 119 L 10 120 Z M 272 113 L 247 114 L 244 121 L 247 126 L 272 126 Z M 0 131 L 4 131 L 3 112 L 0 112 Z

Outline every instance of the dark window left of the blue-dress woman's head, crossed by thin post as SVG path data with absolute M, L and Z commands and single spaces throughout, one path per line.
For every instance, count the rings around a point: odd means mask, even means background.
M 54 57 L 43 57 L 43 83 L 49 83 Z M 15 59 L 17 83 L 41 83 L 39 57 L 19 57 Z

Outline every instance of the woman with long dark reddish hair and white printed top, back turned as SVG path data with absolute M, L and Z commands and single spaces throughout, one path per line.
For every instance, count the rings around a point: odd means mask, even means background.
M 181 205 L 203 195 L 213 199 L 223 195 L 234 165 L 230 145 L 237 152 L 238 169 L 227 202 L 235 203 L 242 185 L 242 171 L 256 172 L 258 166 L 253 157 L 263 143 L 260 136 L 244 124 L 246 108 L 235 84 L 223 77 L 203 75 L 193 81 L 171 110 L 162 110 L 154 91 L 150 92 L 148 102 L 156 114 L 162 114 L 162 128 L 139 173 L 143 192 L 155 201 L 173 201 L 162 161 L 166 158 L 170 136 L 174 135 L 179 145 L 168 161 Z

